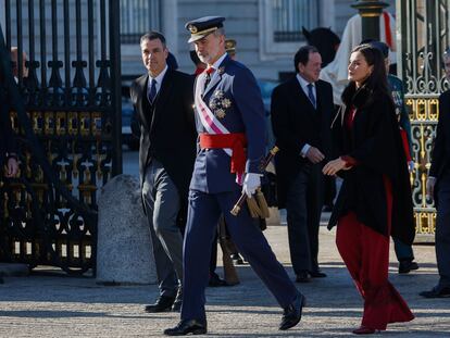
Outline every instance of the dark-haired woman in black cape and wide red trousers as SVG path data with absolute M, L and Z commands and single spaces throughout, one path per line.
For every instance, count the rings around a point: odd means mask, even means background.
M 364 299 L 361 327 L 353 334 L 385 330 L 414 318 L 388 280 L 389 237 L 414 238 L 407 160 L 389 93 L 382 52 L 370 45 L 351 53 L 342 109 L 333 123 L 336 160 L 323 173 L 343 178 L 328 228 Z M 396 226 L 401 225 L 401 226 Z

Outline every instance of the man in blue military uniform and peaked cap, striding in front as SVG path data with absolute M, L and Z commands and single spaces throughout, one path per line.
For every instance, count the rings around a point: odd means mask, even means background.
M 204 288 L 211 241 L 221 213 L 233 240 L 284 309 L 279 329 L 300 322 L 304 297 L 296 289 L 247 209 L 229 213 L 242 193 L 260 186 L 265 124 L 261 92 L 252 73 L 225 52 L 224 17 L 186 24 L 197 54 L 208 64 L 195 86 L 198 153 L 189 191 L 184 241 L 184 295 L 180 322 L 167 336 L 205 334 Z

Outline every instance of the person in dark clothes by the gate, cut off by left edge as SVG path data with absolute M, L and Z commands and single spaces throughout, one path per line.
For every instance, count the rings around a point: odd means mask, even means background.
M 14 177 L 18 172 L 16 141 L 11 128 L 10 108 L 11 104 L 5 88 L 5 78 L 0 70 L 0 175 L 4 173 L 5 177 Z M 1 197 L 0 201 L 0 204 L 3 205 Z M 2 216 L 2 213 L 0 213 L 0 222 L 3 221 Z M 0 284 L 3 284 L 1 275 Z

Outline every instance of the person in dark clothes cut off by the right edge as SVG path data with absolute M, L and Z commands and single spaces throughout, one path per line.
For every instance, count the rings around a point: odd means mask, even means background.
M 450 80 L 450 49 L 443 54 L 443 64 L 447 79 Z M 439 281 L 432 290 L 421 292 L 421 296 L 450 298 L 450 90 L 439 97 L 439 121 L 426 192 L 428 198 L 435 199 L 437 209 L 436 261 Z

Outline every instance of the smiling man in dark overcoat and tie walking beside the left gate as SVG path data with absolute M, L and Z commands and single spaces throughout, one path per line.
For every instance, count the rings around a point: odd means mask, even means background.
M 168 51 L 160 33 L 143 35 L 140 48 L 148 73 L 133 83 L 130 97 L 140 126 L 142 202 L 160 287 L 159 299 L 146 311 L 179 311 L 183 235 L 177 220 L 186 209 L 197 138 L 192 78 L 167 67 Z

